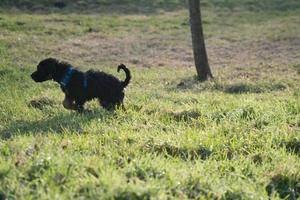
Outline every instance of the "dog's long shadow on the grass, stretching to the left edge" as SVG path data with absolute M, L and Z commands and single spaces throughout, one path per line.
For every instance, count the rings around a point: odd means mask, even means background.
M 54 117 L 36 121 L 16 120 L 11 122 L 4 130 L 1 130 L 0 133 L 2 139 L 10 139 L 17 135 L 62 134 L 66 131 L 84 134 L 85 130 L 82 125 L 95 118 L 98 119 L 99 123 L 103 123 L 113 116 L 114 113 L 106 111 L 83 114 L 70 111 L 69 113 L 59 113 Z

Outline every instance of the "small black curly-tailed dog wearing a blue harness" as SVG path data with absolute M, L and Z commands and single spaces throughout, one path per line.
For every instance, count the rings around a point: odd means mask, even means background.
M 98 98 L 105 109 L 114 110 L 116 106 L 123 106 L 124 88 L 131 79 L 129 69 L 123 64 L 119 65 L 118 72 L 121 69 L 126 73 L 124 81 L 104 72 L 80 72 L 66 62 L 48 58 L 38 64 L 31 77 L 35 82 L 51 79 L 58 82 L 65 93 L 63 106 L 66 109 L 82 112 L 86 101 Z

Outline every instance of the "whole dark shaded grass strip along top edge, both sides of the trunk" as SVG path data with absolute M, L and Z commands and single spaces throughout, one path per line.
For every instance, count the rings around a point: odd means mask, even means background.
M 17 8 L 29 13 L 106 13 L 106 14 L 155 14 L 187 7 L 185 0 L 1 0 L 0 9 Z M 224 10 L 291 11 L 300 8 L 298 0 L 211 0 L 201 2 L 202 7 Z

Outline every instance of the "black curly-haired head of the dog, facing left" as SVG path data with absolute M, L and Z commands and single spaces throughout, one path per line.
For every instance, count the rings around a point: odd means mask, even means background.
M 58 60 L 54 58 L 42 60 L 38 64 L 37 70 L 31 74 L 31 78 L 35 82 L 44 82 L 53 79 L 53 75 L 56 72 L 58 64 Z

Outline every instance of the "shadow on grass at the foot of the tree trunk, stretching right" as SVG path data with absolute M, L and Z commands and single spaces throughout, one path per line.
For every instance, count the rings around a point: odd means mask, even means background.
M 228 94 L 243 94 L 243 93 L 264 93 L 273 91 L 283 91 L 287 87 L 283 83 L 232 83 L 223 84 L 217 81 L 207 81 L 201 83 L 195 79 L 184 79 L 176 88 L 180 90 L 199 90 L 199 91 L 220 91 Z M 172 89 L 172 88 L 171 88 Z

